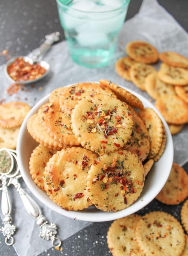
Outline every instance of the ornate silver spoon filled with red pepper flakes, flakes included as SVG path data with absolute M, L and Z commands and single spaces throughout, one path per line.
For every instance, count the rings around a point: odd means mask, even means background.
M 46 35 L 46 40 L 37 51 L 29 56 L 11 58 L 5 66 L 5 74 L 11 82 L 33 83 L 44 78 L 50 71 L 50 65 L 39 57 L 47 52 L 53 43 L 59 41 L 59 32 Z

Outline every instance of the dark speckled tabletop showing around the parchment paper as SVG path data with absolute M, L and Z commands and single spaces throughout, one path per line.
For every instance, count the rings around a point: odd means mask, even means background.
M 139 10 L 142 0 L 131 0 L 127 19 L 133 17 Z M 188 30 L 188 1 L 187 0 L 159 0 L 159 3 L 175 17 L 175 19 Z M 0 52 L 8 49 L 12 55 L 28 54 L 37 48 L 44 35 L 53 31 L 61 32 L 55 0 L 16 0 L 0 1 Z M 6 62 L 0 56 L 0 64 Z M 188 171 L 188 164 L 184 165 Z M 182 204 L 178 206 L 166 206 L 157 200 L 153 200 L 138 213 L 143 215 L 153 210 L 163 210 L 171 213 L 179 219 Z M 94 223 L 79 231 L 63 242 L 63 252 L 53 248 L 44 251 L 40 256 L 110 256 L 107 247 L 106 234 L 111 222 Z M 24 241 L 20 241 L 20 246 Z M 13 247 L 4 243 L 4 237 L 0 233 L 0 256 L 17 255 Z

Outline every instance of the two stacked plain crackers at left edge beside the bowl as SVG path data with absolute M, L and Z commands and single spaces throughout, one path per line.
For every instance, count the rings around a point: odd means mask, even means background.
M 20 125 L 30 109 L 24 102 L 0 105 L 0 148 L 16 148 Z

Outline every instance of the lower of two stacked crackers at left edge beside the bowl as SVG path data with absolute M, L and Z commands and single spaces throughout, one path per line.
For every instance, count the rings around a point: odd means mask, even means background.
M 15 149 L 19 130 L 20 127 L 10 129 L 0 128 L 0 148 Z

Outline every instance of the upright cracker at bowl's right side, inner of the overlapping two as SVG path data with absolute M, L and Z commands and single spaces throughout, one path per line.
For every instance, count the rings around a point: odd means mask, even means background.
M 160 150 L 163 137 L 163 124 L 159 115 L 152 108 L 145 108 L 138 113 L 146 124 L 149 133 L 151 148 L 149 158 L 153 158 Z

